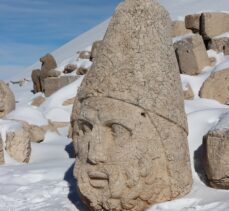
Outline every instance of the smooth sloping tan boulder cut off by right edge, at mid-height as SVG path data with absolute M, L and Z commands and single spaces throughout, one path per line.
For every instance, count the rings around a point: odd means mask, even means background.
M 229 105 L 229 69 L 212 73 L 202 85 L 200 97 Z

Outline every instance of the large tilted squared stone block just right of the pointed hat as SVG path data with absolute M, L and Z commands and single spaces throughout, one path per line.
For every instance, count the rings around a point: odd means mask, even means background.
M 175 43 L 175 51 L 181 73 L 196 75 L 210 65 L 203 39 L 198 34 Z

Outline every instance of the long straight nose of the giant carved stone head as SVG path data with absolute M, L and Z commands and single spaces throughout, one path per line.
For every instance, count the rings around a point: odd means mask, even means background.
M 108 140 L 106 131 L 102 127 L 94 127 L 91 140 L 88 143 L 88 162 L 91 164 L 107 161 Z

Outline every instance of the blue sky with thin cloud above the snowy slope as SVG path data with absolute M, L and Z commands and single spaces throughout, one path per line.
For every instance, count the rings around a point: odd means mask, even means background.
M 110 17 L 121 0 L 0 0 L 0 70 L 21 69 Z

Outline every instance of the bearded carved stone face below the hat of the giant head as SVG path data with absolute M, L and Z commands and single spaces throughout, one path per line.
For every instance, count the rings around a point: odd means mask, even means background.
M 144 209 L 155 201 L 152 191 L 166 195 L 163 147 L 142 108 L 110 98 L 88 98 L 74 131 L 75 175 L 91 208 Z

